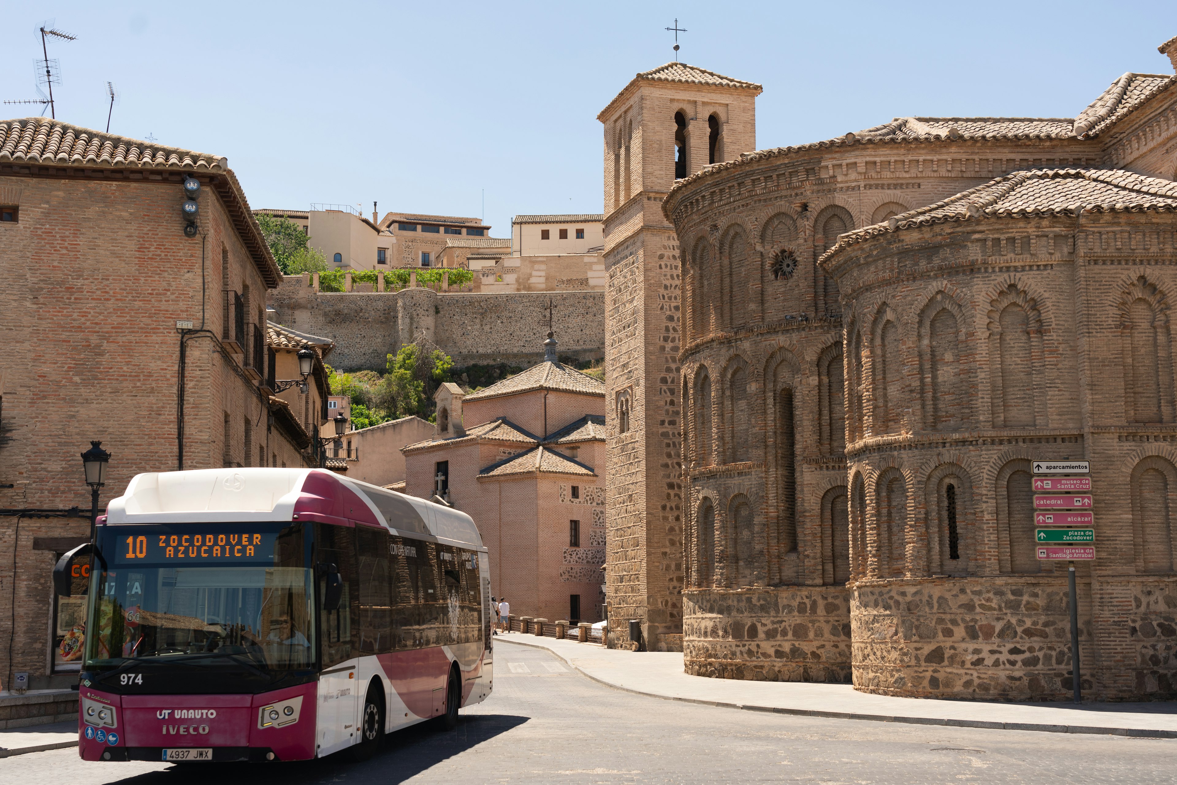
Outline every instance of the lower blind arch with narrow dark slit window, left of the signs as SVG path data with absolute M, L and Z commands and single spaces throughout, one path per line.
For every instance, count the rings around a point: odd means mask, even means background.
M 973 515 L 972 479 L 959 464 L 942 464 L 924 484 L 927 574 L 977 574 L 979 532 Z

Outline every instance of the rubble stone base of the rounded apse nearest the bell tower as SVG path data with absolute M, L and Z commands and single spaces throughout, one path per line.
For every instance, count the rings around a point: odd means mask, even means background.
M 850 681 L 845 586 L 692 588 L 683 593 L 687 673 L 757 681 Z

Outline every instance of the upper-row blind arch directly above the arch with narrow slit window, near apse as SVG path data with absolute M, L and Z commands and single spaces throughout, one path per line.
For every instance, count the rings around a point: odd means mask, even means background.
M 960 304 L 937 292 L 919 312 L 920 401 L 924 427 L 958 431 L 972 421 L 969 368 L 973 352 L 965 338 L 965 314 Z

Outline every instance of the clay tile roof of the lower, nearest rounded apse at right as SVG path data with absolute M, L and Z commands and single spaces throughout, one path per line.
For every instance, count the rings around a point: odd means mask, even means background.
M 895 215 L 838 237 L 818 260 L 871 237 L 945 221 L 982 218 L 1075 215 L 1079 211 L 1177 212 L 1177 182 L 1122 169 L 1032 169 L 1016 172 L 926 207 Z

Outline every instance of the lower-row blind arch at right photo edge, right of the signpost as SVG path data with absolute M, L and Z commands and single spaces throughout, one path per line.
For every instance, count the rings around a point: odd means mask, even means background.
M 1132 467 L 1132 544 L 1137 572 L 1173 571 L 1173 492 L 1177 470 L 1159 455 L 1149 455 Z

